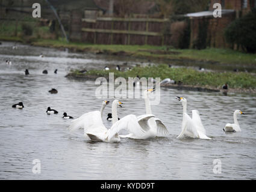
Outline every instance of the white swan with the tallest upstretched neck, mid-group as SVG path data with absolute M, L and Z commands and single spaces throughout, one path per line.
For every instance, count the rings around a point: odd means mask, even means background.
M 151 111 L 151 105 L 149 100 L 149 94 L 155 91 L 155 88 L 148 89 L 143 92 L 143 96 L 145 99 L 145 106 L 146 106 L 146 115 L 152 114 Z M 140 115 L 137 116 L 137 121 L 140 123 L 143 118 L 145 118 L 146 115 Z M 145 122 L 145 121 L 144 121 Z M 133 133 L 128 134 L 126 136 L 120 136 L 121 138 L 133 138 L 133 139 L 151 139 L 156 136 L 166 136 L 169 134 L 166 126 L 163 124 L 163 122 L 158 118 L 150 118 L 146 123 L 140 124 L 145 131 L 145 134 L 143 136 L 137 136 Z

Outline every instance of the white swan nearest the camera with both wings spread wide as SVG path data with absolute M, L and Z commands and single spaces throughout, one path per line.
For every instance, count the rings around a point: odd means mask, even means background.
M 91 140 L 102 141 L 102 142 L 120 142 L 120 137 L 118 135 L 120 130 L 127 130 L 130 133 L 136 135 L 143 135 L 143 129 L 140 127 L 139 122 L 135 115 L 127 115 L 124 118 L 117 121 L 117 106 L 122 104 L 118 100 L 114 100 L 112 104 L 112 115 L 113 115 L 113 125 L 110 129 L 107 129 L 102 122 L 101 114 L 99 111 L 89 112 L 83 115 L 84 134 L 87 135 Z M 145 119 L 154 117 L 154 115 L 148 115 Z

